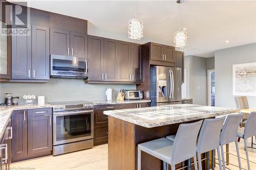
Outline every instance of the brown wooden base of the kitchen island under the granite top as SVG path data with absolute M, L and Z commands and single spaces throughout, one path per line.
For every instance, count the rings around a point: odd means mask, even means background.
M 214 118 L 214 117 L 212 117 Z M 199 119 L 200 120 L 200 119 Z M 199 120 L 193 120 L 185 123 L 197 122 Z M 110 170 L 116 169 L 137 169 L 137 145 L 146 141 L 165 137 L 167 135 L 176 134 L 179 125 L 164 125 L 153 128 L 145 128 L 125 120 L 121 120 L 112 116 L 109 116 L 109 156 L 108 166 Z M 211 167 L 211 152 L 209 153 L 209 167 Z M 202 155 L 202 159 L 206 157 L 206 154 Z M 192 162 L 193 159 L 192 159 Z M 182 162 L 176 165 L 176 168 L 181 168 L 187 165 L 187 162 Z M 206 161 L 202 162 L 203 169 L 206 169 Z M 160 159 L 151 156 L 147 153 L 141 153 L 141 169 L 162 169 L 163 163 Z M 194 167 L 194 165 L 192 166 Z M 170 169 L 170 166 L 169 168 Z

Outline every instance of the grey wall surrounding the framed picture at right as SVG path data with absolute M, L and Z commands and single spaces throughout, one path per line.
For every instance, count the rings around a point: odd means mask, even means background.
M 232 65 L 256 62 L 256 43 L 215 52 L 216 106 L 235 108 L 232 94 Z M 247 96 L 249 107 L 256 107 L 256 96 Z

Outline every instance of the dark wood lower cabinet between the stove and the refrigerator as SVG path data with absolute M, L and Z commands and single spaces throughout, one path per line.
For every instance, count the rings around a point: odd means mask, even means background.
M 130 103 L 122 105 L 98 105 L 94 106 L 94 137 L 93 145 L 108 143 L 109 126 L 108 116 L 103 114 L 106 110 L 133 109 L 139 107 L 148 107 L 149 103 Z

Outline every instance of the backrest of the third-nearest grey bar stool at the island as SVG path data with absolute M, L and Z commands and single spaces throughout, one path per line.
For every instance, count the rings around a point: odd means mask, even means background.
M 238 127 L 241 120 L 242 114 L 230 114 L 227 116 L 221 132 L 221 145 L 231 143 L 237 140 Z

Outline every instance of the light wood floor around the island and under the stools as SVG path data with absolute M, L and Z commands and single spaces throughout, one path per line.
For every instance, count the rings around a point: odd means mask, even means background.
M 251 140 L 247 140 L 248 145 Z M 255 145 L 254 145 L 255 146 Z M 256 147 L 256 146 L 255 146 Z M 245 151 L 243 147 L 243 139 L 239 142 L 240 156 L 246 158 Z M 250 167 L 251 170 L 256 169 L 256 149 L 249 149 Z M 237 155 L 236 147 L 234 143 L 230 144 L 229 152 L 231 154 Z M 229 161 L 232 164 L 238 165 L 236 156 L 229 156 Z M 246 160 L 241 159 L 242 167 L 247 169 Z M 253 163 L 254 162 L 254 163 Z M 227 165 L 229 169 L 236 170 L 239 169 L 236 166 Z M 93 149 L 73 152 L 69 154 L 63 154 L 58 156 L 46 156 L 26 161 L 21 161 L 17 163 L 12 163 L 11 168 L 35 168 L 35 170 L 40 169 L 94 169 L 103 170 L 108 169 L 108 144 L 99 145 Z M 218 166 L 216 167 L 218 170 Z

